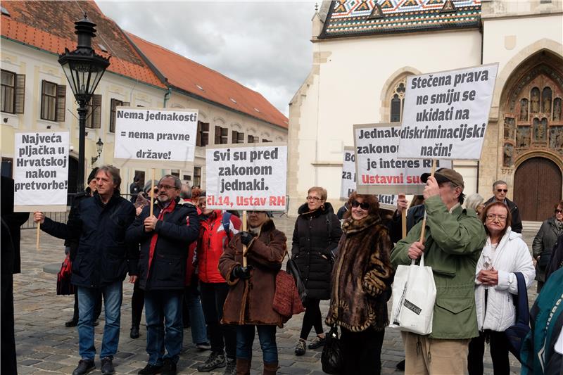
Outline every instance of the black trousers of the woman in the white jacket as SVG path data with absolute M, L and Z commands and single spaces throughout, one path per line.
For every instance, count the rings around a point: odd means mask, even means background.
M 483 355 L 485 353 L 485 340 L 489 339 L 491 345 L 491 359 L 495 375 L 510 374 L 508 361 L 508 339 L 504 332 L 489 331 L 479 332 L 479 337 L 474 337 L 469 342 L 469 355 L 467 355 L 467 370 L 469 375 L 483 374 Z

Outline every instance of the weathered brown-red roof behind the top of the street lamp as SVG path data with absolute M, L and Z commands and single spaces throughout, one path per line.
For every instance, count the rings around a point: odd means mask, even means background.
M 88 18 L 96 23 L 94 50 L 101 56 L 111 56 L 108 71 L 166 88 L 129 44 L 120 27 L 103 15 L 94 1 L 2 1 L 2 6 L 10 13 L 2 14 L 3 38 L 57 54 L 65 48 L 76 49 L 74 23 L 86 11 Z M 100 44 L 107 52 L 102 51 Z

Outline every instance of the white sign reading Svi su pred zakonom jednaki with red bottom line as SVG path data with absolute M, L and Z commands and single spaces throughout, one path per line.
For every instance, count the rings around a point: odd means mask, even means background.
M 208 146 L 205 174 L 208 208 L 286 210 L 286 144 Z

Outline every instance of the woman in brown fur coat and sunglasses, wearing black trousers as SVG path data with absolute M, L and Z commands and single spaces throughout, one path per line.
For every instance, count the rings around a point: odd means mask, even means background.
M 341 328 L 342 375 L 380 374 L 393 281 L 393 244 L 375 196 L 354 192 L 348 203 L 325 322 Z

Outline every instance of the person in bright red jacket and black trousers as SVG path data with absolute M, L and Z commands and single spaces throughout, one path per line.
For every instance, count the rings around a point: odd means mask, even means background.
M 239 233 L 241 220 L 229 212 L 208 210 L 205 207 L 204 195 L 200 197 L 198 207 L 205 215 L 205 220 L 200 222 L 197 248 L 198 277 L 201 305 L 211 343 L 211 354 L 205 363 L 198 367 L 198 371 L 208 372 L 218 367 L 227 367 L 224 374 L 234 375 L 236 371 L 236 328 L 220 324 L 229 286 L 219 273 L 218 266 L 219 259 L 229 241 Z

